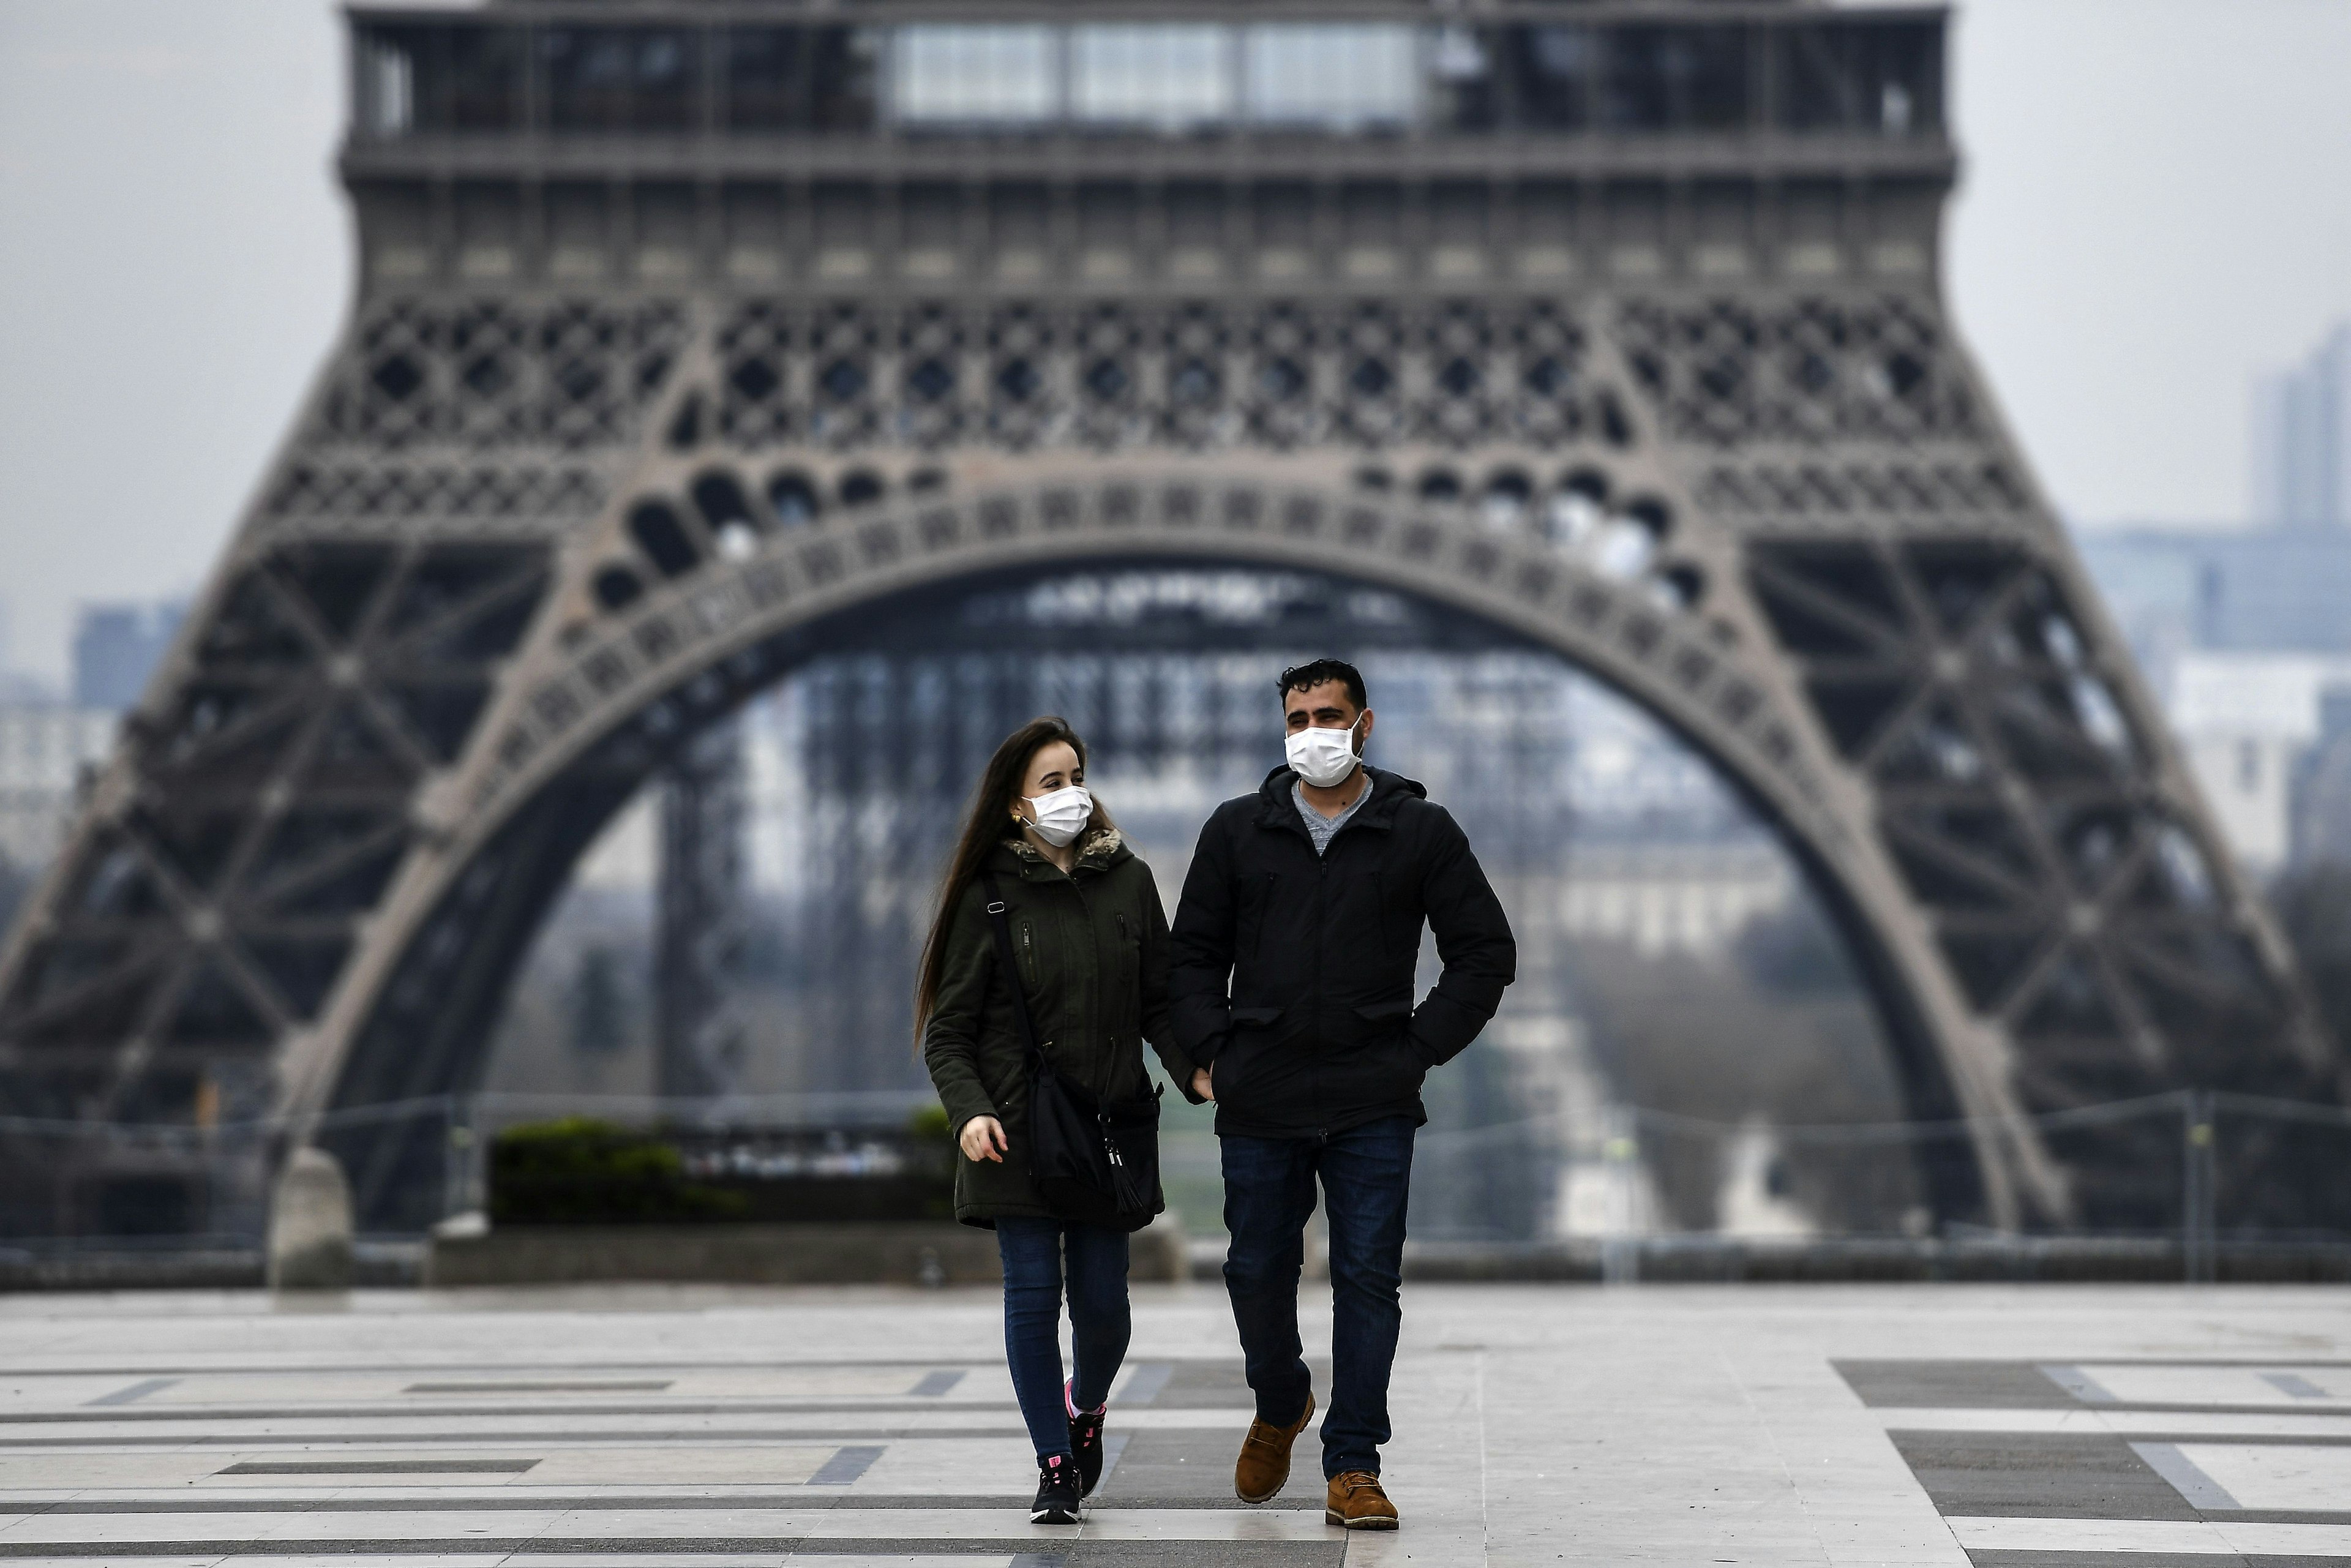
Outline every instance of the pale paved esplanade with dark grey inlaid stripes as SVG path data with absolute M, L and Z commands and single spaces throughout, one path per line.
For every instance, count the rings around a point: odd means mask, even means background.
M 1312 1335 L 1310 1335 L 1312 1338 Z M 2351 1293 L 1415 1286 L 1406 1526 L 1230 1497 L 1218 1291 L 1140 1291 L 1030 1526 L 992 1293 L 0 1302 L 0 1556 L 223 1563 L 2351 1559 Z

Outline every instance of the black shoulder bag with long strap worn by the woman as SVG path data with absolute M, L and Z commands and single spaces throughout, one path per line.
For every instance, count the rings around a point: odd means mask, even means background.
M 1159 1095 L 1103 1100 L 1084 1084 L 1053 1072 L 1037 1044 L 1037 1025 L 1013 959 L 1013 929 L 1004 889 L 990 875 L 987 924 L 997 933 L 997 969 L 1013 999 L 1013 1020 L 1030 1067 L 1030 1180 L 1058 1220 L 1143 1229 L 1166 1204 L 1159 1199 Z

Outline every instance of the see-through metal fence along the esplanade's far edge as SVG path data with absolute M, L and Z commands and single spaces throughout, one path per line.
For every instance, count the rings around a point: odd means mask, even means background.
M 726 1100 L 473 1093 L 329 1112 L 301 1128 L 0 1117 L 5 1166 L 106 1171 L 110 1192 L 129 1199 L 186 1194 L 146 1208 L 125 1201 L 113 1211 L 85 1201 L 71 1215 L 19 1201 L 7 1211 L 0 1258 L 75 1248 L 256 1248 L 268 1225 L 270 1173 L 296 1135 L 331 1147 L 362 1128 L 411 1128 L 442 1154 L 440 1171 L 423 1178 L 437 1192 L 421 1194 L 426 1201 L 416 1211 L 456 1215 L 484 1208 L 489 1140 L 520 1124 L 595 1117 L 639 1128 L 856 1131 L 905 1126 L 931 1103 L 924 1093 Z M 1632 1267 L 1627 1258 L 1676 1244 L 1989 1241 L 1996 1232 L 1980 1222 L 1933 1215 L 1921 1168 L 1965 1157 L 1984 1133 L 2024 1131 L 2048 1147 L 2059 1175 L 2069 1171 L 2069 1152 L 2092 1143 L 2104 1157 L 2083 1168 L 2116 1168 L 2111 1154 L 2121 1140 L 2130 1152 L 2123 1168 L 2132 1222 L 2095 1232 L 2034 1227 L 2012 1241 L 2071 1237 L 2158 1246 L 2191 1281 L 2215 1279 L 2217 1258 L 2231 1246 L 2344 1248 L 2351 1255 L 2351 1110 L 2212 1091 L 2012 1121 L 1766 1124 L 1617 1105 L 1469 1128 L 1432 1126 L 1415 1159 L 1413 1234 L 1439 1248 L 1594 1246 L 1615 1260 L 1610 1272 L 1617 1276 Z M 1164 1168 L 1168 1197 L 1194 1234 L 1215 1234 L 1213 1135 L 1197 1121 L 1171 1126 Z M 2102 1204 L 2109 1213 L 2116 1208 L 2111 1197 Z M 59 1222 L 68 1218 L 75 1222 Z

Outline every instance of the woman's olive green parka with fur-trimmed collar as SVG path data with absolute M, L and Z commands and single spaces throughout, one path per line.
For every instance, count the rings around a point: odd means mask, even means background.
M 999 844 L 987 870 L 1004 891 L 1020 987 L 1053 1070 L 1096 1095 L 1147 1098 L 1150 1039 L 1168 1074 L 1187 1084 L 1192 1065 L 1168 1027 L 1166 912 L 1152 870 L 1119 832 L 1086 835 L 1067 872 L 1025 839 Z M 1030 1182 L 1027 1051 L 997 969 L 987 884 L 973 877 L 947 924 L 922 1060 L 957 1138 L 973 1117 L 1004 1124 L 1011 1150 L 1002 1164 L 955 1154 L 955 1218 L 985 1229 L 1002 1215 L 1053 1215 Z M 1159 1206 L 1154 1197 L 1154 1213 Z

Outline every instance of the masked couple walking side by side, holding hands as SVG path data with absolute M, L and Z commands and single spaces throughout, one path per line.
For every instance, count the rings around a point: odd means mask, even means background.
M 1126 1239 L 1166 1204 L 1143 1041 L 1215 1103 L 1225 1286 L 1255 1394 L 1234 1493 L 1270 1502 L 1314 1418 L 1298 1279 L 1317 1180 L 1331 1229 L 1324 1519 L 1396 1528 L 1380 1488 L 1420 1081 L 1502 1001 L 1516 947 L 1460 825 L 1364 764 L 1364 677 L 1284 670 L 1288 762 L 1225 802 L 1173 929 L 1086 790 L 1086 745 L 1034 719 L 987 764 L 922 954 L 915 1027 L 962 1159 L 955 1215 L 997 1232 L 1004 1349 L 1037 1448 L 1037 1523 L 1077 1523 L 1126 1356 Z M 1420 931 L 1444 973 L 1418 999 Z M 1063 1378 L 1060 1307 L 1074 1342 Z

